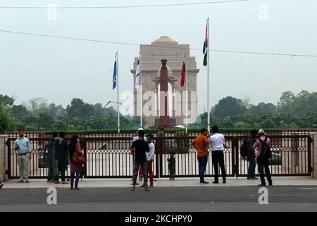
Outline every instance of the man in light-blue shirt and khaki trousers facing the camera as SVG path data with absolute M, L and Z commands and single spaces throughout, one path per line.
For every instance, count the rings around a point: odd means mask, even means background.
M 17 162 L 20 171 L 20 179 L 19 182 L 23 183 L 23 179 L 25 179 L 25 183 L 29 182 L 29 165 L 31 160 L 31 144 L 28 138 L 24 137 L 24 130 L 19 130 L 19 138 L 14 141 L 14 150 L 17 151 Z

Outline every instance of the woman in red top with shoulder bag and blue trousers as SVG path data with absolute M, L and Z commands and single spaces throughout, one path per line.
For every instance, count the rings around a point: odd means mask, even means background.
M 82 174 L 82 164 L 73 162 L 74 153 L 82 155 L 82 148 L 80 147 L 80 139 L 74 135 L 69 145 L 69 157 L 70 157 L 70 190 L 74 189 L 74 178 L 75 178 L 75 190 L 78 188 L 80 174 Z M 75 177 L 76 174 L 76 177 Z

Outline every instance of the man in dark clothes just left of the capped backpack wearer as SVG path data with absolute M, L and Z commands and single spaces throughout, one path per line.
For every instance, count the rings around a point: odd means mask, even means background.
M 247 157 L 248 157 L 248 161 L 249 161 L 249 169 L 248 169 L 247 179 L 257 179 L 256 177 L 254 177 L 256 161 L 255 161 L 255 153 L 254 153 L 254 149 L 253 149 L 253 145 L 254 145 L 254 143 L 256 143 L 256 136 L 257 135 L 258 135 L 258 132 L 256 130 L 251 130 L 248 138 L 246 140 L 244 140 L 245 147 L 248 150 Z

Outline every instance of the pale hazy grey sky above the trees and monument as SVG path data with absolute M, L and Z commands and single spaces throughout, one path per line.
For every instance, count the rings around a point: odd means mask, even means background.
M 0 6 L 130 6 L 198 1 L 6 1 Z M 206 0 L 207 1 L 207 0 Z M 212 0 L 208 0 L 212 1 Z M 259 19 L 259 6 L 268 14 Z M 317 54 L 317 1 L 249 0 L 240 3 L 160 8 L 46 9 L 0 8 L 0 30 L 150 44 L 168 35 L 180 44 L 202 48 L 206 18 L 211 19 L 211 47 L 246 52 Z M 267 16 L 268 20 L 263 20 Z M 15 104 L 44 97 L 64 107 L 80 97 L 89 103 L 116 100 L 112 90 L 113 57 L 120 54 L 121 90 L 132 90 L 138 46 L 60 40 L 0 32 L 0 93 Z M 197 57 L 199 113 L 206 107 L 206 68 Z M 249 97 L 251 103 L 273 102 L 285 90 L 317 91 L 317 57 L 211 54 L 211 104 L 222 97 Z

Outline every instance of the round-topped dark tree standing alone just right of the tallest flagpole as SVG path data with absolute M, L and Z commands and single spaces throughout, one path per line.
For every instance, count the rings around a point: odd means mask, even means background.
M 213 115 L 219 118 L 234 116 L 237 114 L 246 114 L 247 107 L 242 100 L 235 97 L 225 97 L 215 106 Z

